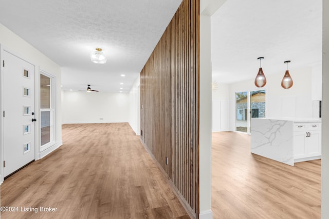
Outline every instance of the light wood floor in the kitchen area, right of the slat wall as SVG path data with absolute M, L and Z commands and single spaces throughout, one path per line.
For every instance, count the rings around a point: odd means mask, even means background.
M 212 134 L 213 218 L 320 218 L 321 160 L 289 166 L 250 153 L 250 135 Z

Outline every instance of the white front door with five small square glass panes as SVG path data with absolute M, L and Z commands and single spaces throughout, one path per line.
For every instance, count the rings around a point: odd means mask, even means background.
M 34 66 L 3 51 L 5 177 L 34 160 Z

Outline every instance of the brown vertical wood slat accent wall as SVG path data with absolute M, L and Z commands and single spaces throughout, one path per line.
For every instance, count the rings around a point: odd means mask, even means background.
M 198 79 L 199 0 L 183 0 L 140 73 L 141 140 L 194 215 L 199 211 Z

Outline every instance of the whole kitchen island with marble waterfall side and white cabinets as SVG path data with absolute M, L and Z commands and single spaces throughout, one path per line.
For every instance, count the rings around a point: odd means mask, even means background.
M 252 118 L 251 153 L 291 166 L 321 158 L 321 121 Z

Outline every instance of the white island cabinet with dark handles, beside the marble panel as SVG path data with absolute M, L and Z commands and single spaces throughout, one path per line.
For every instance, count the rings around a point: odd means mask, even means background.
M 321 158 L 321 124 L 294 124 L 294 162 Z

